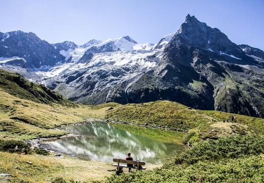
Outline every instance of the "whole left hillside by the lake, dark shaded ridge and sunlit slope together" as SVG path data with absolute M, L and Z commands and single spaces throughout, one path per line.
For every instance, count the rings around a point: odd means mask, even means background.
M 0 69 L 0 138 L 32 139 L 64 135 L 53 128 L 83 122 L 107 109 L 74 104 L 44 85 Z

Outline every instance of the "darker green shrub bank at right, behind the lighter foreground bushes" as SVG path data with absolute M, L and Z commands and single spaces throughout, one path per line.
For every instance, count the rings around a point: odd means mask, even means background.
M 194 164 L 204 160 L 220 160 L 223 158 L 241 158 L 246 155 L 264 153 L 264 137 L 230 136 L 218 140 L 197 143 L 175 157 L 175 164 Z

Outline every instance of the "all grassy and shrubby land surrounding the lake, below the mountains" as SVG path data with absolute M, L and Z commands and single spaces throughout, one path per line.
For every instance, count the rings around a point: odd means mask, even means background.
M 83 182 L 139 182 L 140 179 L 144 182 L 171 182 L 231 181 L 239 178 L 246 181 L 251 176 L 257 182 L 263 172 L 262 118 L 237 115 L 235 123 L 223 123 L 233 114 L 196 110 L 169 101 L 97 106 L 72 104 L 44 86 L 31 84 L 22 76 L 6 71 L 2 71 L 0 88 L 0 171 L 11 173 L 9 179 L 12 181 L 36 182 L 41 179 L 43 182 L 65 182 L 74 179 Z M 169 162 L 164 162 L 162 168 L 152 170 L 154 167 L 148 166 L 148 171 L 126 173 L 119 177 L 107 171 L 112 168 L 107 163 L 76 160 L 68 156 L 56 158 L 54 153 L 38 148 L 28 150 L 28 154 L 23 156 L 14 154 L 16 145 L 19 150 L 22 147 L 30 149 L 18 140 L 58 138 L 68 132 L 56 127 L 81 123 L 88 118 L 105 118 L 112 123 L 123 121 L 126 122 L 123 129 L 129 128 L 129 123 L 132 123 L 177 130 L 184 132 L 183 142 L 193 148 L 176 154 Z M 173 137 L 168 135 L 166 138 Z M 33 162 L 33 165 L 27 162 Z M 245 168 L 248 166 L 255 168 L 249 172 Z M 223 174 L 228 176 L 223 177 Z M 64 178 L 58 178 L 62 176 Z

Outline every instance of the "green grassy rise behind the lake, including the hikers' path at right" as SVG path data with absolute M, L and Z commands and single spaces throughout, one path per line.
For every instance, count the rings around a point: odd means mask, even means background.
M 188 132 L 185 141 L 190 143 L 229 135 L 264 133 L 264 119 L 237 114 L 236 122 L 231 123 L 231 115 L 234 114 L 196 110 L 176 102 L 156 101 L 117 106 L 107 112 L 106 118 Z

